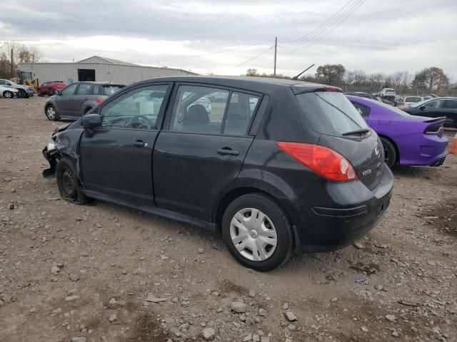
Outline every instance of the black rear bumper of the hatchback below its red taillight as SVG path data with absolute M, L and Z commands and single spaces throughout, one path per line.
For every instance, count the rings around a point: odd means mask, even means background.
M 329 252 L 352 244 L 368 233 L 381 220 L 388 208 L 393 190 L 393 175 L 384 165 L 381 183 L 369 190 L 360 181 L 326 182 L 321 202 L 315 203 L 312 192 L 293 200 L 301 210 L 293 215 L 297 252 Z

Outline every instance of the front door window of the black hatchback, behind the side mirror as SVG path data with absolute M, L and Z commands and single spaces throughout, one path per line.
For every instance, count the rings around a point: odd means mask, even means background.
M 130 90 L 101 108 L 101 125 L 106 128 L 156 129 L 157 116 L 168 88 L 167 85 L 156 85 Z

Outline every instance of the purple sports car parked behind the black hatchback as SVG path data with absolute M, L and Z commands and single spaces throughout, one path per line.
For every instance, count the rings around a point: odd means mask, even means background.
M 346 95 L 383 143 L 386 164 L 443 165 L 448 139 L 443 135 L 446 118 L 414 116 L 368 98 Z

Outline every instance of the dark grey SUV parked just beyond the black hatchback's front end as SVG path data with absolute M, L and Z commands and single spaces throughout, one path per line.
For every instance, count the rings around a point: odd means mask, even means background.
M 109 95 L 124 88 L 123 84 L 108 82 L 75 82 L 56 91 L 44 105 L 44 113 L 49 120 L 60 118 L 77 119 L 86 114 Z

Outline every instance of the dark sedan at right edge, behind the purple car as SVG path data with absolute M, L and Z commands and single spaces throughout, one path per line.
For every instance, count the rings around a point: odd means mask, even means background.
M 412 115 L 428 118 L 445 117 L 445 127 L 457 128 L 457 98 L 431 98 L 403 110 Z

